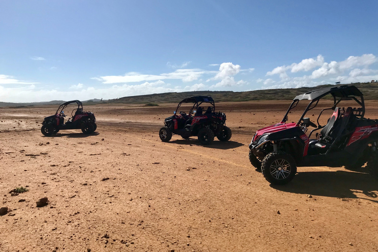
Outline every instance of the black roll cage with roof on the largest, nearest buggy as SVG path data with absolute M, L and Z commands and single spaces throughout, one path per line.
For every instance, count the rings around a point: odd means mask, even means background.
M 365 103 L 364 103 L 363 94 L 355 86 L 344 85 L 344 86 L 340 86 L 340 87 L 331 87 L 331 88 L 314 90 L 314 91 L 311 91 L 311 92 L 308 92 L 308 93 L 305 93 L 305 94 L 302 94 L 302 95 L 295 96 L 295 98 L 293 99 L 293 101 L 290 104 L 289 109 L 286 111 L 286 114 L 284 116 L 284 119 L 282 120 L 282 123 L 285 123 L 287 121 L 287 115 L 289 114 L 290 110 L 295 108 L 300 100 L 304 100 L 304 99 L 311 100 L 311 102 L 306 107 L 305 111 L 303 112 L 301 118 L 299 119 L 299 121 L 297 123 L 299 125 L 300 122 L 303 120 L 304 116 L 306 115 L 306 113 L 309 110 L 312 110 L 313 108 L 315 108 L 317 106 L 317 103 L 319 102 L 319 100 L 326 95 L 332 95 L 333 96 L 333 101 L 334 101 L 333 103 L 334 104 L 331 108 L 323 109 L 320 112 L 320 114 L 317 118 L 317 121 L 316 121 L 317 125 L 318 125 L 317 129 L 321 128 L 321 126 L 319 125 L 319 117 L 320 117 L 321 113 L 324 110 L 327 110 L 327 109 L 335 109 L 337 104 L 339 104 L 340 101 L 342 101 L 342 100 L 354 100 L 354 101 L 356 101 L 361 106 L 361 110 L 360 110 L 362 112 L 361 113 L 361 119 L 364 118 Z M 338 100 L 336 100 L 336 98 L 338 98 Z M 359 98 L 359 99 L 357 99 L 357 98 Z

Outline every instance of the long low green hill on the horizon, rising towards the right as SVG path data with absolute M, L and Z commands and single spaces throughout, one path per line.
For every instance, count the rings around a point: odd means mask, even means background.
M 186 97 L 195 95 L 209 95 L 212 96 L 216 102 L 220 101 L 251 101 L 251 100 L 291 100 L 296 95 L 300 95 L 312 90 L 343 86 L 340 85 L 321 85 L 312 88 L 297 88 L 297 89 L 267 89 L 254 90 L 246 92 L 233 91 L 193 91 L 182 93 L 163 93 L 153 95 L 136 95 L 127 96 L 119 99 L 108 100 L 108 103 L 177 103 Z M 378 83 L 353 83 L 363 94 L 365 100 L 378 99 Z

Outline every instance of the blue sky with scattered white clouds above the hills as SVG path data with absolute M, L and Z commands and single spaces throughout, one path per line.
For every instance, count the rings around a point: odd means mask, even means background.
M 0 0 L 0 101 L 372 79 L 377 0 Z

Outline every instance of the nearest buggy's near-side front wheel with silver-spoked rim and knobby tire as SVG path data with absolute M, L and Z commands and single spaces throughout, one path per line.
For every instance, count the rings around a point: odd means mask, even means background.
M 294 158 L 284 152 L 272 152 L 262 159 L 261 171 L 265 179 L 273 185 L 289 183 L 297 173 Z

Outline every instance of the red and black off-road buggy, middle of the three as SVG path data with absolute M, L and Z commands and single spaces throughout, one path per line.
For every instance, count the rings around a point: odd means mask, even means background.
M 189 114 L 179 112 L 183 103 L 193 103 Z M 206 110 L 204 105 L 207 105 Z M 202 106 L 201 106 L 202 105 Z M 194 114 L 194 116 L 193 116 Z M 159 130 L 161 141 L 168 142 L 172 134 L 181 135 L 187 139 L 190 136 L 198 136 L 203 145 L 209 145 L 214 141 L 214 136 L 220 141 L 228 141 L 231 138 L 231 129 L 225 125 L 226 115 L 222 112 L 215 112 L 215 103 L 210 96 L 192 96 L 183 99 L 177 106 L 173 116 L 164 120 L 164 125 Z

